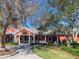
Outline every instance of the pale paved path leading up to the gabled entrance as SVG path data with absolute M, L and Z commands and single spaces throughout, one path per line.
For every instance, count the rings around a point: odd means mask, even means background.
M 13 48 L 15 48 L 19 53 L 14 56 L 3 59 L 42 59 L 32 52 L 31 47 L 29 45 L 21 45 L 19 47 L 17 46 Z

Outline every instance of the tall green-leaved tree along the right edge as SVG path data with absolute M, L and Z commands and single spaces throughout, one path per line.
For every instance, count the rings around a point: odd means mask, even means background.
M 79 0 L 51 0 L 51 1 L 48 0 L 48 4 L 51 7 L 56 7 L 59 10 L 60 19 L 62 18 L 62 16 L 65 16 L 67 18 L 69 26 L 65 32 L 68 34 L 69 33 L 72 34 L 73 38 L 76 36 L 76 39 L 77 39 L 77 35 L 78 35 L 78 17 L 76 17 L 77 15 L 75 16 L 74 13 L 79 8 L 78 2 L 79 2 Z M 77 11 L 77 13 L 78 13 L 78 11 Z M 74 22 L 73 22 L 73 20 L 74 20 Z M 73 26 L 73 24 L 74 24 L 74 26 Z M 64 27 L 63 27 L 63 29 L 64 29 Z M 76 39 L 74 39 L 74 40 L 76 40 Z

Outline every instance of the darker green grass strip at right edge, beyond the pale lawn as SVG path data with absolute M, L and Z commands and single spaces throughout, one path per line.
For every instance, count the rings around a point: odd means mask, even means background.
M 78 48 L 68 48 L 66 46 L 62 46 L 61 49 L 68 53 L 71 53 L 72 55 L 79 56 L 79 47 Z

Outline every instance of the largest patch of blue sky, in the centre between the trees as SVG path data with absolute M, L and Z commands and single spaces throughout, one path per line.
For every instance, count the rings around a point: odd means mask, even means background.
M 46 0 L 32 0 L 32 3 L 37 4 L 37 9 L 35 10 L 34 14 L 32 16 L 27 17 L 27 21 L 23 21 L 23 25 L 27 26 L 29 28 L 33 28 L 32 21 L 36 20 L 38 17 L 42 16 L 42 14 L 45 12 L 46 14 L 58 14 L 58 10 L 53 7 L 49 7 Z

